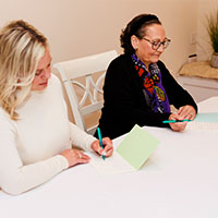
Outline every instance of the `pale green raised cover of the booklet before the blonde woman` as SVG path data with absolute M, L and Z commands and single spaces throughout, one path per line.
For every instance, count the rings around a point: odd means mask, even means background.
M 158 146 L 159 140 L 135 125 L 117 148 L 133 168 L 138 170 Z

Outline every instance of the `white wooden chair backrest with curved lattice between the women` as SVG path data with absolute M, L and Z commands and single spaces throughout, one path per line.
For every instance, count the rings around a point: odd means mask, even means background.
M 89 134 L 95 133 L 97 125 L 86 128 L 84 117 L 102 108 L 104 100 L 102 98 L 99 99 L 98 96 L 98 94 L 102 94 L 100 85 L 105 81 L 106 70 L 110 61 L 117 56 L 117 51 L 111 50 L 53 64 L 53 68 L 58 69 L 64 84 L 75 124 Z M 96 73 L 99 73 L 99 76 L 94 81 L 93 75 L 95 74 L 96 76 Z M 85 84 L 76 80 L 80 77 L 85 77 Z M 81 99 L 78 99 L 74 86 L 83 89 Z

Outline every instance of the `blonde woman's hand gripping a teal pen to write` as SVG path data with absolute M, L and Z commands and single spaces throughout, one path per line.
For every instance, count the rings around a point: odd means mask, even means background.
M 104 148 L 100 147 L 100 143 L 98 140 L 92 143 L 90 147 L 93 150 L 95 150 L 97 154 L 105 155 L 106 157 L 110 157 L 113 152 L 112 147 L 112 141 L 109 137 L 104 137 L 102 138 L 102 146 Z

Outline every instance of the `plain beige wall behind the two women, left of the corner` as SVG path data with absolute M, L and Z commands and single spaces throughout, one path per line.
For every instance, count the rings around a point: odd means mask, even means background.
M 24 19 L 50 41 L 53 62 L 120 49 L 120 32 L 140 13 L 155 13 L 172 39 L 162 60 L 177 72 L 193 52 L 198 0 L 0 0 L 0 26 Z M 201 10 L 202 11 L 202 10 Z

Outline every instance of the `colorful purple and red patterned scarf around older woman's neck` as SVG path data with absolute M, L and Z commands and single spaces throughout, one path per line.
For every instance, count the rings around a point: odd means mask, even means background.
M 142 80 L 143 93 L 150 110 L 159 113 L 170 112 L 170 104 L 167 93 L 162 87 L 161 73 L 157 63 L 150 63 L 148 71 L 135 53 L 131 57 L 135 70 Z

